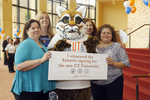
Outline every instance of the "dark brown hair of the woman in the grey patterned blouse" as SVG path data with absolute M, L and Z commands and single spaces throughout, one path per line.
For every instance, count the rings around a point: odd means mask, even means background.
M 102 33 L 104 28 L 109 28 L 109 30 L 111 31 L 111 33 L 112 33 L 112 40 L 111 41 L 117 42 L 115 29 L 114 29 L 113 26 L 111 26 L 109 24 L 104 24 L 104 25 L 102 25 L 101 27 L 98 28 L 96 36 L 99 38 L 99 40 L 101 40 L 100 37 L 101 37 L 101 33 Z

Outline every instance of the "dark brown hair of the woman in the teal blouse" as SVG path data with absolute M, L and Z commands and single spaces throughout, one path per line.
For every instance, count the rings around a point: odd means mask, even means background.
M 41 28 L 39 21 L 34 20 L 34 19 L 28 20 L 26 22 L 26 24 L 24 25 L 24 28 L 23 28 L 23 40 L 25 40 L 28 37 L 28 34 L 26 33 L 26 30 L 28 30 L 30 28 L 31 24 L 34 23 L 34 22 L 36 22 L 39 25 L 39 27 Z

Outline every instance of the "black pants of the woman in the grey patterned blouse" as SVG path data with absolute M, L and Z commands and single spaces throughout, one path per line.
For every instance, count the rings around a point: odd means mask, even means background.
M 123 75 L 107 85 L 97 85 L 91 82 L 91 92 L 94 100 L 122 100 Z

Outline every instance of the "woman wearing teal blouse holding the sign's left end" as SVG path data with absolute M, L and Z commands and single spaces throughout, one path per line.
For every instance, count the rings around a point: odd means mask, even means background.
M 11 92 L 16 100 L 48 100 L 48 93 L 55 89 L 55 82 L 48 81 L 48 64 L 51 53 L 39 41 L 40 24 L 26 22 L 23 41 L 15 54 L 16 74 Z

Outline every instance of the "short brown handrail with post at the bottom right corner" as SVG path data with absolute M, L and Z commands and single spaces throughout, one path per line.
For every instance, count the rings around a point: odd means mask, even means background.
M 138 84 L 138 78 L 139 77 L 150 77 L 150 74 L 148 75 L 133 75 L 133 78 L 137 78 L 137 82 L 136 82 L 136 100 L 139 100 L 139 84 Z

